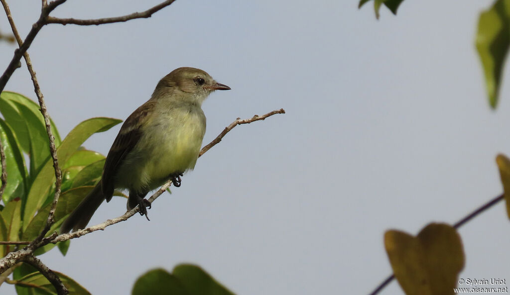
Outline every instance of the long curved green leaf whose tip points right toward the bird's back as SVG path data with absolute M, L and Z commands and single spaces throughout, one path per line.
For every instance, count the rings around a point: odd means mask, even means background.
M 71 155 L 77 151 L 83 142 L 91 135 L 96 132 L 106 131 L 120 122 L 122 121 L 112 118 L 92 118 L 78 124 L 78 126 L 74 127 L 74 129 L 69 132 L 57 150 L 59 163 L 64 163 L 65 165 Z M 53 170 L 53 162 L 48 159 L 30 188 L 23 213 L 23 229 L 28 227 L 35 212 L 41 208 L 48 198 L 48 192 L 54 182 L 55 173 Z

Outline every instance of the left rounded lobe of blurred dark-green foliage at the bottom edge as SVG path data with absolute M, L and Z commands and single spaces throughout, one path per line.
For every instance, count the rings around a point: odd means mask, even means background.
M 163 269 L 151 270 L 140 276 L 133 286 L 132 295 L 189 295 L 179 279 Z M 203 294 L 207 295 L 207 294 Z

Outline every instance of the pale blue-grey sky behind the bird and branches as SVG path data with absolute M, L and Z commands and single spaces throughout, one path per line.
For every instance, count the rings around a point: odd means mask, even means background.
M 25 36 L 40 1 L 10 2 Z M 53 15 L 157 3 L 68 0 Z M 146 270 L 181 262 L 237 294 L 367 294 L 391 273 L 385 230 L 453 223 L 501 192 L 508 81 L 491 111 L 474 49 L 491 3 L 407 0 L 377 21 L 356 1 L 179 0 L 149 19 L 46 26 L 29 53 L 62 136 L 91 117 L 125 119 L 180 66 L 232 87 L 203 105 L 204 144 L 237 117 L 287 114 L 236 127 L 155 202 L 150 222 L 135 216 L 41 259 L 93 294 L 128 294 Z M 13 50 L 0 44 L 1 68 Z M 35 98 L 25 68 L 6 90 Z M 119 127 L 86 147 L 106 154 Z M 124 211 L 124 200 L 105 203 L 92 223 Z M 499 204 L 460 230 L 461 278 L 510 280 L 509 228 Z M 395 282 L 382 292 L 400 293 Z

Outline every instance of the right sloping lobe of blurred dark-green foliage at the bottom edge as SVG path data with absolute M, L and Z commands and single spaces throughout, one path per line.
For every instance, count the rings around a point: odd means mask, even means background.
M 197 265 L 180 264 L 172 273 L 190 295 L 234 295 Z

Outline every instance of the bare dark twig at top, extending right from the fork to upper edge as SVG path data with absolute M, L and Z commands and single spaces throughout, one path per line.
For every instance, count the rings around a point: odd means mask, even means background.
M 63 25 L 66 24 L 78 24 L 78 25 L 99 25 L 105 23 L 113 23 L 113 22 L 124 22 L 128 20 L 132 20 L 135 18 L 148 18 L 151 17 L 152 14 L 162 10 L 163 8 L 169 6 L 174 3 L 175 0 L 167 0 L 163 3 L 156 5 L 144 12 L 134 12 L 131 14 L 117 16 L 117 17 L 107 17 L 107 18 L 98 18 L 98 19 L 75 19 L 75 18 L 58 18 L 53 16 L 46 17 L 46 23 L 60 23 Z

